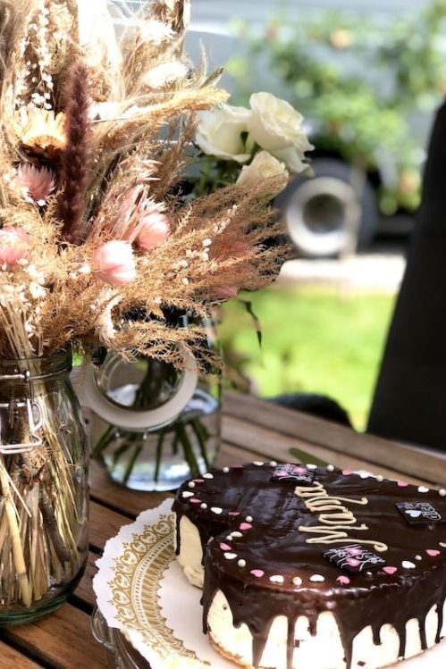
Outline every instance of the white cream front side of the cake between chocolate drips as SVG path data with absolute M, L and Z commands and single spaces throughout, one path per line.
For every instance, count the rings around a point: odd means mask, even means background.
M 428 648 L 435 645 L 438 628 L 438 615 L 435 606 L 425 620 Z M 446 621 L 446 604 L 444 617 Z M 231 608 L 221 590 L 217 590 L 207 616 L 207 626 L 211 641 L 224 656 L 246 667 L 252 667 L 252 635 L 246 624 L 236 628 L 232 622 Z M 407 623 L 408 640 L 406 656 L 416 656 L 423 652 L 417 620 Z M 446 622 L 443 623 L 442 635 L 446 634 Z M 288 620 L 281 615 L 273 620 L 260 667 L 267 669 L 286 669 Z M 338 625 L 330 612 L 324 612 L 317 619 L 316 636 L 308 631 L 308 619 L 301 616 L 296 623 L 293 669 L 346 669 L 344 651 Z M 384 625 L 381 631 L 382 643 L 374 645 L 372 628 L 366 627 L 353 642 L 351 669 L 379 669 L 396 663 L 399 659 L 400 638 L 391 625 Z M 433 669 L 441 669 L 434 667 Z

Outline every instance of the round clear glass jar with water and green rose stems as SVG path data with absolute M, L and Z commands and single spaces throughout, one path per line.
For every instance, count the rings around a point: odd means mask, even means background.
M 209 325 L 206 331 L 212 346 L 215 330 Z M 126 363 L 106 356 L 95 383 L 116 413 L 93 411 L 90 429 L 93 456 L 114 481 L 135 490 L 172 490 L 212 466 L 220 446 L 221 376 L 199 376 L 194 364 L 186 360 L 185 372 L 178 372 L 150 357 Z

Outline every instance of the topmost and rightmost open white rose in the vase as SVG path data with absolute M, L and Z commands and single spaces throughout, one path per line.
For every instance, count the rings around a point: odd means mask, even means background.
M 284 161 L 291 171 L 306 169 L 305 152 L 314 147 L 303 129 L 303 116 L 271 93 L 255 93 L 250 105 L 248 130 L 258 146 Z

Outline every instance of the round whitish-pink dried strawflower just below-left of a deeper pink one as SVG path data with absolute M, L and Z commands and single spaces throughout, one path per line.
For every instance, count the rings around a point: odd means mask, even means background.
M 126 286 L 136 279 L 136 263 L 129 242 L 107 241 L 93 253 L 92 268 L 99 279 L 111 286 Z

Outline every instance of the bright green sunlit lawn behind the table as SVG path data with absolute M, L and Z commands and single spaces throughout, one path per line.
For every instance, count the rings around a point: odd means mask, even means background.
M 224 307 L 221 337 L 257 394 L 323 393 L 364 430 L 394 297 L 273 288 L 245 298 L 261 322 L 262 348 L 251 317 L 237 303 Z

